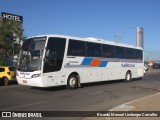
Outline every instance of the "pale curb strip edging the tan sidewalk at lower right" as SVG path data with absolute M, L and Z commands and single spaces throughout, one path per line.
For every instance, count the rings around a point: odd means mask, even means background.
M 137 99 L 137 100 L 133 100 L 133 101 L 130 101 L 130 102 L 126 102 L 126 103 L 124 103 L 124 104 L 118 105 L 118 106 L 110 109 L 109 111 L 129 111 L 129 110 L 132 110 L 132 109 L 134 108 L 134 106 L 129 106 L 129 104 L 132 104 L 132 103 L 135 103 L 135 102 L 144 100 L 144 99 L 148 99 L 148 98 L 153 97 L 153 96 L 156 96 L 156 95 L 160 95 L 160 93 L 156 93 L 156 94 L 149 95 L 149 96 L 146 96 L 146 97 Z

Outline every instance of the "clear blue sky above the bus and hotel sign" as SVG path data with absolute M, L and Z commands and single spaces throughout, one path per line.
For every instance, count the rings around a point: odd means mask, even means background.
M 0 0 L 0 13 L 23 16 L 24 36 L 62 34 L 136 45 L 144 28 L 144 51 L 160 60 L 160 0 Z

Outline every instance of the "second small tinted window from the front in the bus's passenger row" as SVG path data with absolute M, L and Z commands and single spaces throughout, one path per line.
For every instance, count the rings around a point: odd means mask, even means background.
M 101 57 L 101 45 L 98 43 L 86 42 L 88 57 Z

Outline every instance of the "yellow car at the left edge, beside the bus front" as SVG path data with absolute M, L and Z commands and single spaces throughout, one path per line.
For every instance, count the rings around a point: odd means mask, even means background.
M 0 66 L 0 84 L 8 85 L 16 81 L 16 68 L 13 66 Z

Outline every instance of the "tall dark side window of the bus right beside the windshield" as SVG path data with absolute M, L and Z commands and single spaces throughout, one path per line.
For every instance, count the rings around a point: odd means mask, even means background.
M 63 63 L 66 39 L 50 37 L 44 61 L 44 73 L 60 71 Z

